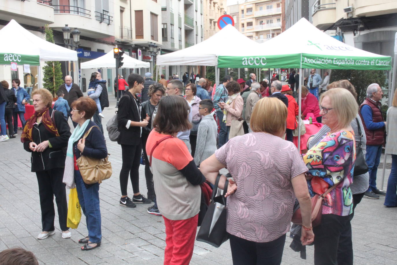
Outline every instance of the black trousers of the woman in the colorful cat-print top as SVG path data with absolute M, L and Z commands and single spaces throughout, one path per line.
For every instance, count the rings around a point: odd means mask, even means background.
M 339 238 L 347 226 L 350 226 L 349 215 L 322 215 L 320 225 L 313 227 L 314 264 L 339 265 L 337 262 Z

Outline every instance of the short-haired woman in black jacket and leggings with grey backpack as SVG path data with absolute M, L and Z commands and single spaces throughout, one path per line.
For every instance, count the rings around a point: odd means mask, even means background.
M 139 192 L 139 161 L 141 159 L 142 128 L 149 123 L 150 117 L 141 119 L 141 103 L 137 93 L 141 93 L 144 79 L 139 74 L 128 76 L 128 91 L 119 101 L 117 114 L 117 126 L 120 131 L 117 143 L 121 145 L 122 166 L 120 170 L 121 199 L 119 204 L 125 207 L 134 208 L 135 203 L 151 203 Z M 134 192 L 132 200 L 127 195 L 128 174 Z

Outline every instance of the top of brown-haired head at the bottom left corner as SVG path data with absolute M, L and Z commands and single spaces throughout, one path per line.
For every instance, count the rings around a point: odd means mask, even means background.
M 35 254 L 23 248 L 9 248 L 0 252 L 0 265 L 39 265 Z

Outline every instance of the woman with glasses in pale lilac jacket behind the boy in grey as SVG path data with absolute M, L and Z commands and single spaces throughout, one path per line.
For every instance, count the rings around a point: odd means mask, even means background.
M 188 84 L 185 88 L 185 96 L 187 104 L 191 107 L 192 112 L 192 128 L 190 129 L 189 141 L 192 148 L 192 157 L 195 157 L 196 152 L 196 142 L 197 142 L 197 132 L 198 125 L 201 121 L 201 115 L 198 113 L 198 105 L 200 105 L 201 99 L 196 96 L 197 87 L 195 84 Z

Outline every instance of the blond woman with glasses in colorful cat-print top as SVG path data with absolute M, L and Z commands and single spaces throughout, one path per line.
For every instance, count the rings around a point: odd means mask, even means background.
M 334 88 L 320 96 L 320 115 L 330 128 L 303 156 L 308 168 L 306 180 L 311 196 L 318 196 L 333 187 L 322 202 L 322 220 L 313 228 L 314 264 L 353 264 L 339 259 L 341 235 L 350 226 L 353 213 L 353 168 L 356 159 L 355 133 L 351 121 L 358 105 L 353 95 L 343 88 Z M 343 237 L 343 236 L 342 236 Z

